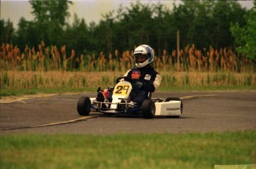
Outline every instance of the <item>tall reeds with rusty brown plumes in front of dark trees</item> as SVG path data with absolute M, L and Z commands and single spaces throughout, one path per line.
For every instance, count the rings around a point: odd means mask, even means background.
M 255 71 L 255 63 L 246 59 L 246 56 L 237 57 L 228 49 L 197 50 L 194 44 L 180 50 L 180 65 L 177 65 L 177 51 L 168 54 L 163 50 L 162 56 L 154 59 L 154 67 L 159 71 Z M 22 71 L 125 71 L 134 66 L 132 51 L 125 51 L 122 55 L 118 50 L 114 56 L 99 53 L 99 56 L 76 56 L 74 50 L 67 56 L 65 46 L 60 50 L 56 46 L 45 47 L 45 43 L 35 47 L 26 47 L 23 52 L 12 44 L 2 44 L 0 53 L 1 70 Z

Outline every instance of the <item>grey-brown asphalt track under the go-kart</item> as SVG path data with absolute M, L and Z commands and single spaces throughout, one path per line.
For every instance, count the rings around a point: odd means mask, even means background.
M 37 96 L 0 100 L 0 135 L 13 133 L 186 133 L 256 130 L 256 91 L 171 93 L 159 91 L 153 97 L 180 97 L 184 110 L 180 118 L 166 116 L 105 116 L 92 112 L 79 116 L 80 96 L 96 93 Z

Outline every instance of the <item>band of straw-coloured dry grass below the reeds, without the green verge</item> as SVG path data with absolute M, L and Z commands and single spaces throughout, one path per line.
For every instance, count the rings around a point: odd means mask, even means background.
M 114 86 L 121 72 L 3 71 L 1 88 L 85 88 Z M 255 73 L 161 72 L 161 87 L 256 86 Z M 255 87 L 256 88 L 256 87 Z

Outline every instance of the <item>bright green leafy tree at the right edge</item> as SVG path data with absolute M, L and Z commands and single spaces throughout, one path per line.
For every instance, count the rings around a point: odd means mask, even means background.
M 245 54 L 256 61 L 256 1 L 254 7 L 244 17 L 246 25 L 236 23 L 231 27 L 232 35 L 237 43 L 238 53 Z

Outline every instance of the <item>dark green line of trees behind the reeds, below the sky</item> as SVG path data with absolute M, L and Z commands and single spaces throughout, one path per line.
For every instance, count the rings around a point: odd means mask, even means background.
M 239 37 L 235 36 L 246 26 L 245 16 L 250 16 L 237 1 L 183 1 L 174 4 L 172 10 L 161 3 L 136 1 L 130 7 L 119 6 L 116 11 L 109 11 L 99 24 L 87 24 L 76 14 L 69 24 L 71 1 L 30 0 L 30 4 L 34 19 L 27 21 L 22 17 L 17 30 L 10 20 L 1 19 L 1 44 L 17 45 L 23 51 L 26 46 L 37 47 L 43 41 L 47 46 L 65 45 L 68 51 L 75 50 L 77 57 L 115 50 L 122 53 L 139 44 L 151 45 L 156 55 L 161 56 L 163 50 L 171 53 L 177 49 L 177 31 L 181 49 L 188 44 L 202 51 L 210 46 L 235 49 L 238 44 L 246 44 L 245 39 L 237 40 Z

